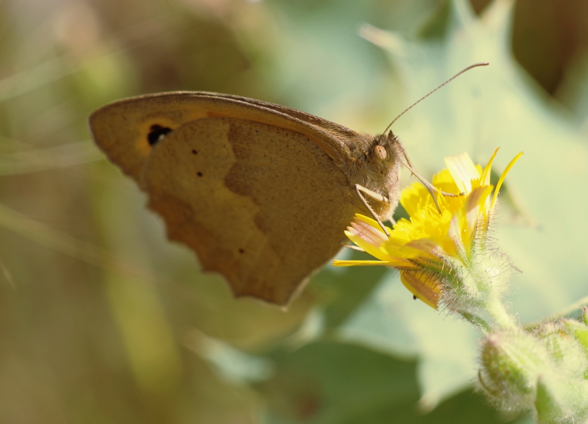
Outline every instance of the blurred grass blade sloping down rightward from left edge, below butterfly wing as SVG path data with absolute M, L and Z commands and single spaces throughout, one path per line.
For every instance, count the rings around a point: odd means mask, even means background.
M 29 240 L 68 254 L 105 270 L 118 272 L 141 280 L 152 280 L 150 272 L 130 264 L 93 244 L 69 234 L 49 228 L 0 203 L 0 226 L 8 228 Z

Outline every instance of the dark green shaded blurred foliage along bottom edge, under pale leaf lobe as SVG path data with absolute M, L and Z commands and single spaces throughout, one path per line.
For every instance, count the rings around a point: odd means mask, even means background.
M 319 342 L 271 359 L 275 374 L 257 386 L 267 402 L 265 424 L 504 422 L 471 391 L 423 413 L 416 403 L 415 363 L 360 346 Z

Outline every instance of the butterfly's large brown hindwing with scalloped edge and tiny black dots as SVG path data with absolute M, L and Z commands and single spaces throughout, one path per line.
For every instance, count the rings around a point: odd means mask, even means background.
M 345 176 L 303 134 L 199 119 L 156 144 L 142 176 L 168 237 L 193 248 L 237 295 L 286 304 L 340 248 L 353 216 Z

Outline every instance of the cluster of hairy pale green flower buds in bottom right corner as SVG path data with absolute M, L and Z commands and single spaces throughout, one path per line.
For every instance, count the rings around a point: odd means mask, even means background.
M 588 420 L 588 326 L 573 319 L 482 340 L 480 391 L 503 412 L 532 409 L 537 423 Z

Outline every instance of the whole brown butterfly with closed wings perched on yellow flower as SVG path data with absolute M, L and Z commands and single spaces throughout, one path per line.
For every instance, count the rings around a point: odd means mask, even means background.
M 400 163 L 413 171 L 387 129 L 357 133 L 246 97 L 133 97 L 96 110 L 89 124 L 148 195 L 170 240 L 223 274 L 235 295 L 278 305 L 339 251 L 355 213 L 390 220 Z

